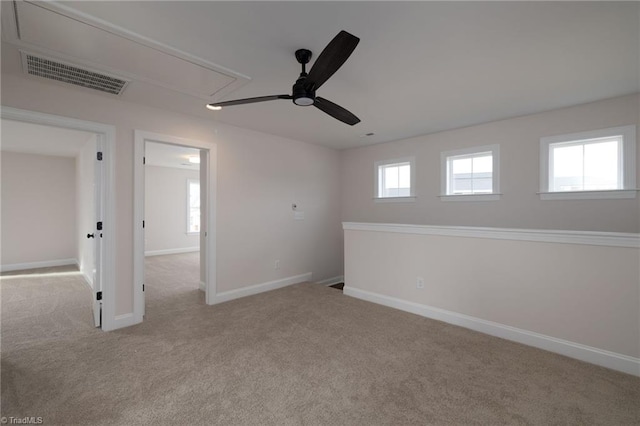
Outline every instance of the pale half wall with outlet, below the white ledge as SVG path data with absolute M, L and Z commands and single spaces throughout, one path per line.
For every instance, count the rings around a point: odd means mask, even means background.
M 467 315 L 464 326 L 507 338 L 514 335 L 482 321 L 516 327 L 528 344 L 539 345 L 528 339 L 534 332 L 640 355 L 637 248 L 566 244 L 540 235 L 542 241 L 527 241 L 402 231 L 345 231 L 346 294 L 362 297 L 353 290 L 364 290 L 431 314 L 444 309 L 450 313 L 444 320 L 454 323 L 455 315 Z M 423 288 L 416 288 L 417 277 Z M 546 348 L 559 349 L 549 343 Z M 580 354 L 571 344 L 561 346 L 569 347 L 565 354 Z

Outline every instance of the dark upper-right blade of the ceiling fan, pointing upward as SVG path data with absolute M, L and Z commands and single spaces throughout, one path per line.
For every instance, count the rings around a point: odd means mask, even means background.
M 340 31 L 316 59 L 305 85 L 317 90 L 345 63 L 359 42 L 358 37 L 346 31 Z

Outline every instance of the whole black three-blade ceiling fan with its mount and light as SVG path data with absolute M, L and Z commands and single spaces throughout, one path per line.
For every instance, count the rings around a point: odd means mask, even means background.
M 257 98 L 236 99 L 225 102 L 215 102 L 207 105 L 207 108 L 219 110 L 222 107 L 242 104 L 252 104 L 256 102 L 273 101 L 276 99 L 291 99 L 299 106 L 313 105 L 319 110 L 329 114 L 333 118 L 343 123 L 353 126 L 360 122 L 360 119 L 325 98 L 316 96 L 316 90 L 320 88 L 338 69 L 345 63 L 360 39 L 346 31 L 340 31 L 337 36 L 324 48 L 316 62 L 306 72 L 306 65 L 311 59 L 311 51 L 307 49 L 296 50 L 296 59 L 302 65 L 300 77 L 293 85 L 291 95 L 260 96 Z

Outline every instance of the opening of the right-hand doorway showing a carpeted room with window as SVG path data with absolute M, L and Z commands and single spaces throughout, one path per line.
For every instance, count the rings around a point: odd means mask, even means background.
M 145 142 L 145 315 L 201 303 L 200 149 Z M 204 286 L 203 286 L 204 289 Z

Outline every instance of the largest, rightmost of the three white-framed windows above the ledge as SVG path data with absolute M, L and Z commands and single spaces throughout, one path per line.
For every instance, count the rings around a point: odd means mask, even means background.
M 540 142 L 543 199 L 635 197 L 634 126 Z

